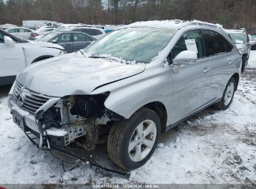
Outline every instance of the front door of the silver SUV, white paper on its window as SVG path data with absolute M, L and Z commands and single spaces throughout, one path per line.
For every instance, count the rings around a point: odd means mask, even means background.
M 169 60 L 175 58 L 180 52 L 189 50 L 189 42 L 194 41 L 197 52 L 197 62 L 195 65 L 181 65 L 179 73 L 171 71 L 173 78 L 173 101 L 169 109 L 171 112 L 171 120 L 177 122 L 186 118 L 189 114 L 197 109 L 206 106 L 211 99 L 208 98 L 209 83 L 206 80 L 205 70 L 209 68 L 206 62 L 206 48 L 204 39 L 200 30 L 189 30 L 184 33 L 174 45 Z M 172 122 L 172 123 L 174 123 Z

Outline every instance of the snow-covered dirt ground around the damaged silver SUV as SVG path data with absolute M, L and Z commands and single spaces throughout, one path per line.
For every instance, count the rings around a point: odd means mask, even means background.
M 80 165 L 64 172 L 13 122 L 0 88 L 0 183 L 256 183 L 256 51 L 226 111 L 207 108 L 161 136 L 129 179 Z

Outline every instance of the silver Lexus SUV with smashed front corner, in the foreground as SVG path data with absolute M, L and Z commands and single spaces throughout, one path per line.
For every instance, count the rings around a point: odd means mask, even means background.
M 219 25 L 138 22 L 26 68 L 9 107 L 27 136 L 40 138 L 39 147 L 76 141 L 92 150 L 107 139 L 111 160 L 133 170 L 148 161 L 162 132 L 212 104 L 229 108 L 241 62 Z

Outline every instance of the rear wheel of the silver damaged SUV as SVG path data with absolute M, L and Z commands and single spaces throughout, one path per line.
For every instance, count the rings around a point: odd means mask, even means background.
M 227 90 L 229 90 L 230 85 L 233 85 L 232 94 L 229 93 L 229 91 L 227 92 Z M 224 90 L 224 93 L 222 95 L 220 102 L 213 104 L 214 108 L 220 109 L 220 110 L 225 110 L 225 109 L 229 108 L 229 106 L 232 103 L 232 100 L 234 98 L 236 86 L 237 86 L 237 81 L 235 81 L 235 78 L 234 77 L 230 78 L 229 82 L 227 83 L 227 86 L 225 87 L 225 90 Z M 227 101 L 227 99 L 225 101 L 226 92 L 229 93 L 228 101 Z

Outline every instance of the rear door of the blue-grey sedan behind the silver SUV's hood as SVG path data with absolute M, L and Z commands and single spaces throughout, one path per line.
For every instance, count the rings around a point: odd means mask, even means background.
M 73 52 L 87 47 L 92 42 L 92 39 L 85 34 L 73 34 Z

